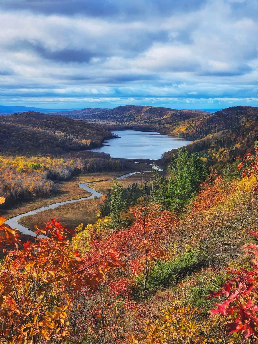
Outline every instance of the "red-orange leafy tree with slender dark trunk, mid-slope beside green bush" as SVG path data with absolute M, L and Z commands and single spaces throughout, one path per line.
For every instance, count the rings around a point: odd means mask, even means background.
M 119 230 L 104 239 L 92 241 L 96 248 L 110 249 L 118 252 L 119 259 L 126 262 L 132 272 L 143 274 L 144 289 L 147 290 L 149 269 L 154 260 L 168 259 L 165 242 L 168 236 L 176 235 L 178 218 L 169 211 L 160 211 L 160 205 L 152 204 L 148 208 L 137 207 L 134 211 L 135 221 L 126 230 Z

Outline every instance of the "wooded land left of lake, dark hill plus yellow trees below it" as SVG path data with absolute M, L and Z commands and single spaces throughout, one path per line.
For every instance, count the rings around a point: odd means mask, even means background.
M 78 173 L 124 169 L 125 161 L 85 151 L 113 137 L 99 125 L 39 112 L 0 117 L 0 193 L 5 206 L 58 192 Z

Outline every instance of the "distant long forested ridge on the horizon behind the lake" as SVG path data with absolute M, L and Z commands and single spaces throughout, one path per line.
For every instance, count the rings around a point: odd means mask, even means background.
M 85 120 L 111 121 L 111 122 L 140 122 L 142 124 L 153 123 L 160 119 L 166 122 L 182 121 L 189 118 L 205 116 L 209 112 L 201 110 L 175 110 L 154 106 L 125 105 L 114 109 L 85 108 L 82 110 L 57 112 L 72 118 Z

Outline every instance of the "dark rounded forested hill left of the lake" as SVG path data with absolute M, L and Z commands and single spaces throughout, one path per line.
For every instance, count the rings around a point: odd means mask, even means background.
M 2 155 L 82 150 L 100 146 L 112 137 L 99 125 L 31 111 L 2 116 L 0 126 Z

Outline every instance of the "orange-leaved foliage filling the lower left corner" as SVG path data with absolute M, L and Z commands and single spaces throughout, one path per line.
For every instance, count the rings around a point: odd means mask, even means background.
M 0 203 L 4 198 L 0 198 Z M 0 268 L 0 341 L 4 344 L 53 343 L 73 338 L 69 311 L 73 298 L 94 291 L 111 269 L 124 267 L 116 252 L 99 252 L 98 261 L 71 252 L 73 231 L 53 219 L 37 228 L 34 242 L 21 244 L 16 229 L 3 225 L 0 237 L 7 251 Z M 21 249 L 19 249 L 21 247 Z

